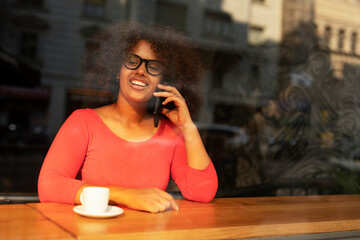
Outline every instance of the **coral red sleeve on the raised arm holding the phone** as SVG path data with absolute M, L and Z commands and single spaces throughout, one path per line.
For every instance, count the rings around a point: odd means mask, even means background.
M 171 174 L 182 195 L 191 201 L 210 202 L 216 194 L 218 179 L 213 163 L 204 170 L 193 169 L 187 165 L 183 141 L 175 148 Z

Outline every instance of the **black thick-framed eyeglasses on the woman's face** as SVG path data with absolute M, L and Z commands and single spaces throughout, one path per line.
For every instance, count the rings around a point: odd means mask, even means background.
M 152 76 L 158 76 L 164 72 L 165 66 L 158 60 L 147 60 L 136 54 L 126 54 L 123 57 L 123 64 L 130 70 L 135 70 L 145 62 L 146 71 Z

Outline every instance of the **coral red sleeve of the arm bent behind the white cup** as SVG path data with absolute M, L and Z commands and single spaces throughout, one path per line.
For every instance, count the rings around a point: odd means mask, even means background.
M 43 163 L 38 180 L 41 202 L 73 204 L 84 182 L 76 175 L 84 161 L 88 145 L 86 125 L 74 112 L 60 128 Z

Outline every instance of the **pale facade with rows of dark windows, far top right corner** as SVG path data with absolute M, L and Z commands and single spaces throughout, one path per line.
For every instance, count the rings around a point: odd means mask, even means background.
M 317 0 L 314 8 L 320 47 L 329 51 L 335 76 L 343 79 L 347 71 L 359 71 L 360 1 Z

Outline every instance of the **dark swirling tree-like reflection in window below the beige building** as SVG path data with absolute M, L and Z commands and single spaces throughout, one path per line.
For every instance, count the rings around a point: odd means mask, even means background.
M 359 159 L 359 67 L 345 65 L 343 78 L 334 74 L 330 51 L 319 46 L 312 23 L 301 23 L 280 45 L 278 93 L 257 115 L 263 183 L 279 179 L 327 179 L 325 189 L 307 186 L 279 195 L 342 193 L 356 177 L 349 161 Z M 255 117 L 254 117 L 255 119 Z M 341 170 L 339 170 L 341 169 Z M 353 176 L 353 175 L 352 175 Z M 352 182 L 351 182 L 352 181 Z M 352 187 L 352 192 L 356 192 Z

